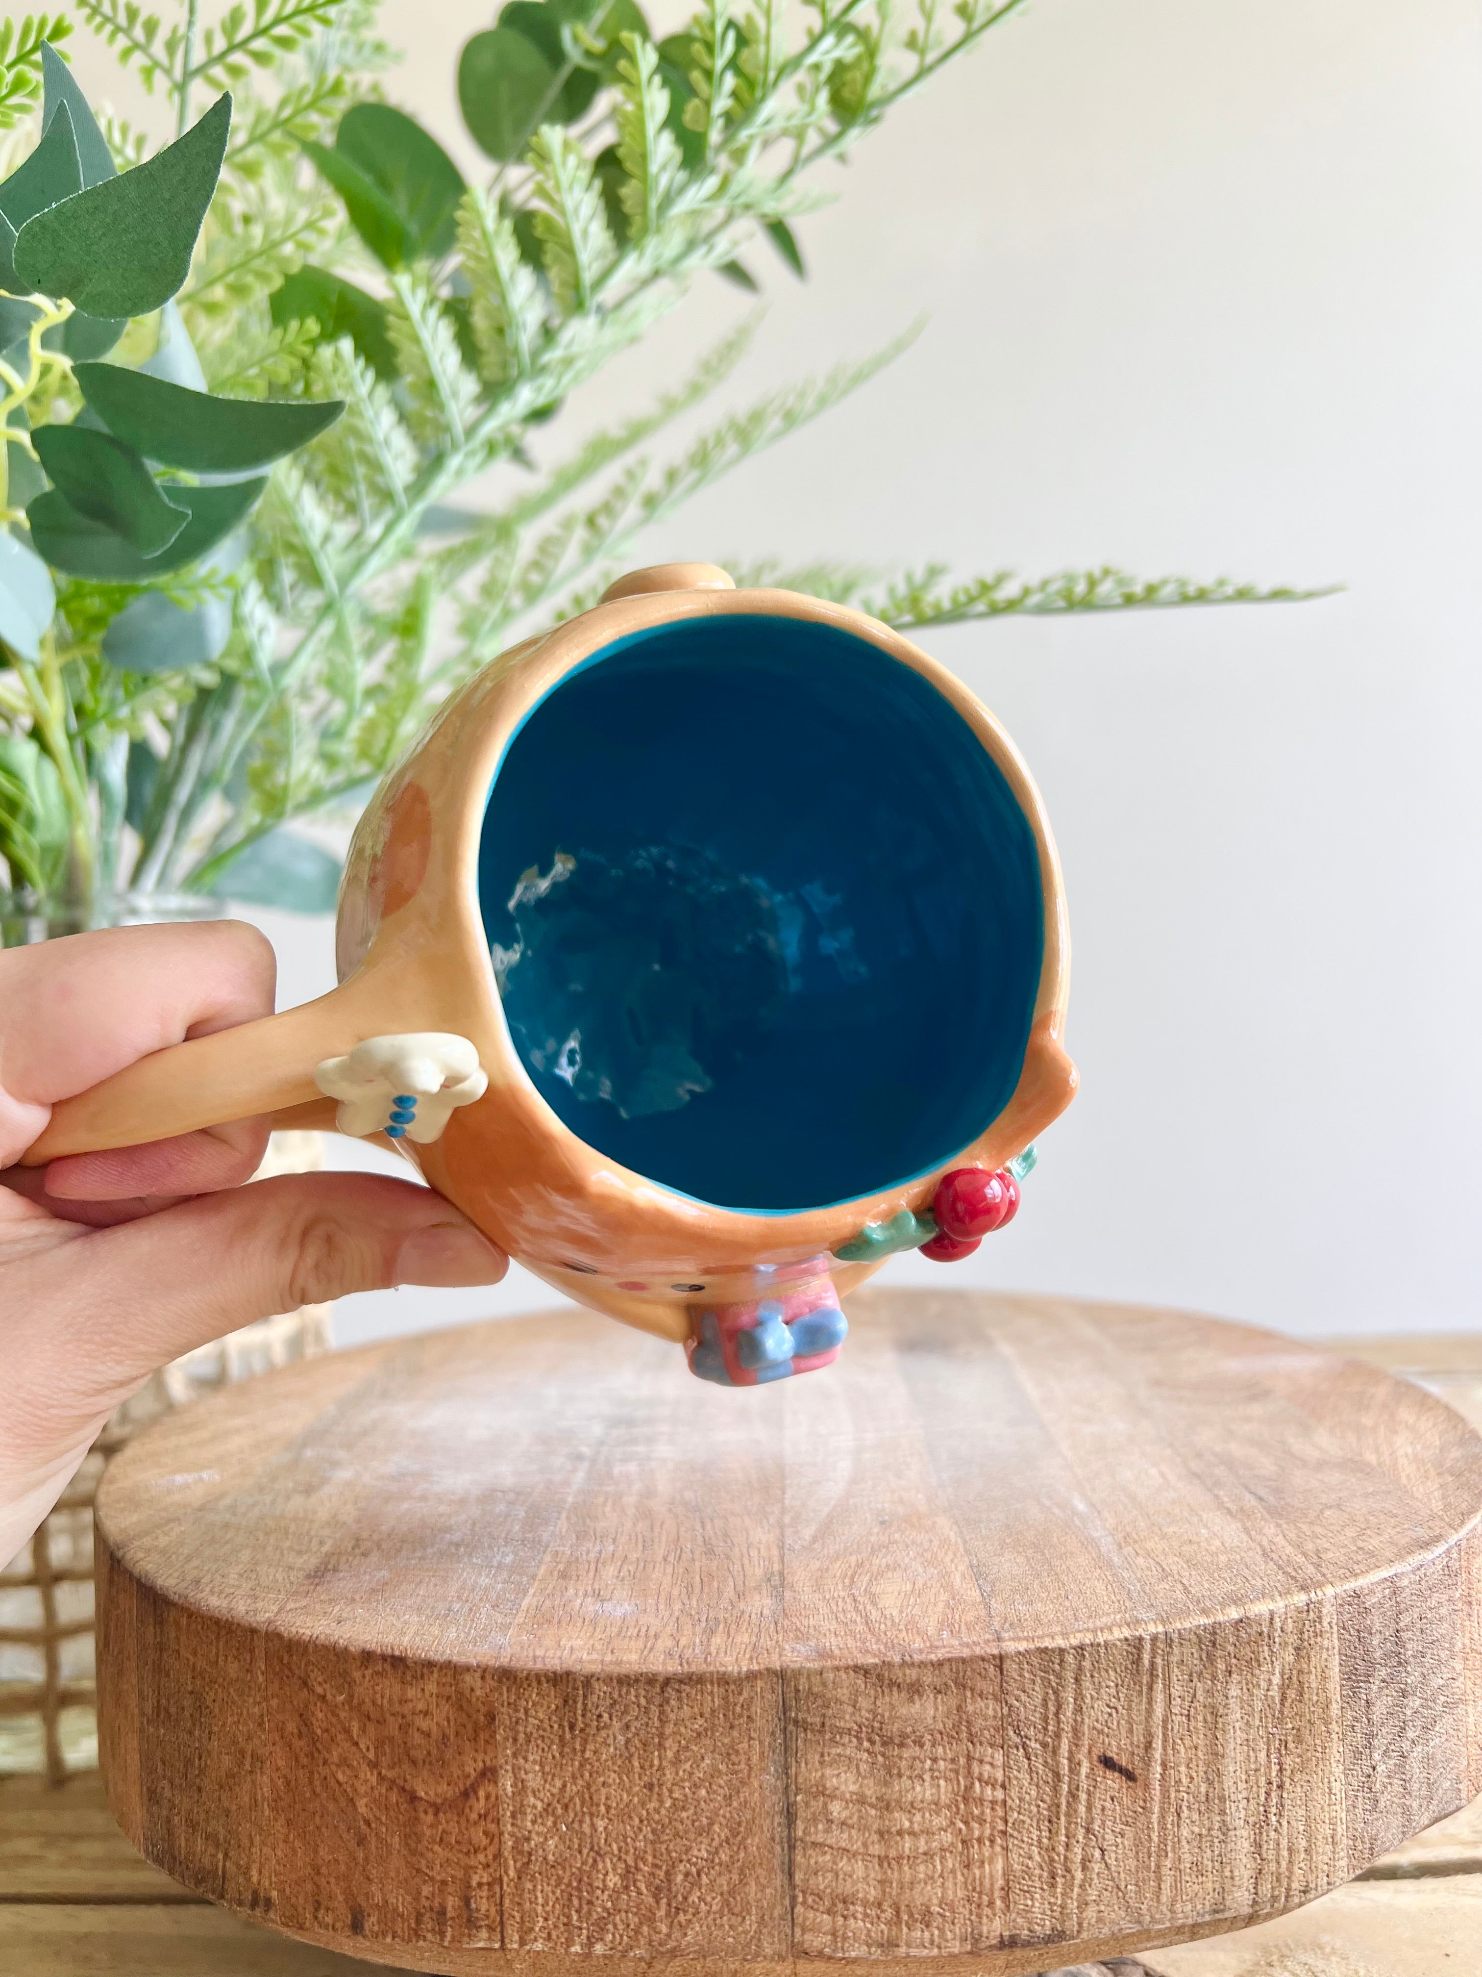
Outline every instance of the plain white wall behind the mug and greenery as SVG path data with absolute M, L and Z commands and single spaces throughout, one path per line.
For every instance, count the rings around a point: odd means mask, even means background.
M 456 49 L 490 16 L 385 18 L 411 49 L 393 93 L 454 144 Z M 771 314 L 731 397 L 923 308 L 927 334 L 636 561 L 1348 585 L 925 641 L 1043 787 L 1083 1091 L 1014 1228 L 948 1275 L 897 1259 L 895 1281 L 1304 1332 L 1476 1325 L 1476 6 L 1037 0 L 836 184 L 800 227 L 806 287 L 753 255 Z M 707 281 L 585 393 L 563 449 L 741 306 Z M 285 1000 L 328 987 L 326 929 L 273 933 Z M 352 1299 L 340 1336 L 549 1297 L 512 1273 Z

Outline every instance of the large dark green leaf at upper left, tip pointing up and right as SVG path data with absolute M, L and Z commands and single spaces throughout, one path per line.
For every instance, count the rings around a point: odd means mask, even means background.
M 190 275 L 229 127 L 225 95 L 132 172 L 28 219 L 14 249 L 20 279 L 41 295 L 69 297 L 89 316 L 148 316 L 162 308 Z

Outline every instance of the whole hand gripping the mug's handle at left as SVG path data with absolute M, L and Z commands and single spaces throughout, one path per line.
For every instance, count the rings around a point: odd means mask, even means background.
M 498 1283 L 508 1267 L 411 1180 L 239 1186 L 263 1159 L 263 1119 L 14 1164 L 59 1099 L 166 1044 L 273 1014 L 273 949 L 229 919 L 0 951 L 0 1564 L 166 1360 L 348 1291 Z

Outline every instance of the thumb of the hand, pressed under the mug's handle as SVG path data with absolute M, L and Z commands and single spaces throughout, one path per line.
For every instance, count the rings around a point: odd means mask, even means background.
M 4 1425 L 32 1459 L 73 1447 L 156 1366 L 253 1319 L 395 1283 L 498 1283 L 508 1267 L 443 1196 L 379 1174 L 285 1174 L 73 1228 L 0 1271 Z

